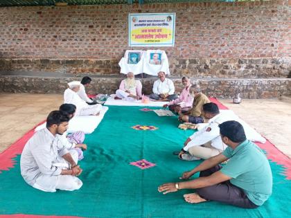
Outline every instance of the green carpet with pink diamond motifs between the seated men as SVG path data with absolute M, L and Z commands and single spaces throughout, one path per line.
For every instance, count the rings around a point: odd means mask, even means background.
M 270 163 L 274 176 L 272 197 L 261 207 L 246 210 L 218 202 L 186 203 L 182 190 L 157 192 L 161 183 L 179 176 L 200 161 L 179 161 L 172 154 L 182 148 L 193 131 L 177 129 L 177 117 L 159 117 L 141 107 L 109 107 L 93 134 L 87 135 L 88 150 L 80 161 L 84 185 L 75 192 L 46 193 L 21 178 L 17 164 L 0 174 L 0 214 L 71 215 L 78 217 L 288 217 L 291 181 L 283 168 Z M 153 125 L 155 131 L 137 131 L 134 125 Z M 145 158 L 157 166 L 140 170 L 129 165 Z M 195 175 L 195 176 L 198 176 Z

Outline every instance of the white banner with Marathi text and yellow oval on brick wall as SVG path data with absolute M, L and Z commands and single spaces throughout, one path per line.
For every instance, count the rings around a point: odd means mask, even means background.
M 174 46 L 176 13 L 129 14 L 130 46 Z

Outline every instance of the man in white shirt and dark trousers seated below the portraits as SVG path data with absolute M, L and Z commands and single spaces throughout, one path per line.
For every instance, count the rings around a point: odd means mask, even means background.
M 150 98 L 160 101 L 175 100 L 178 96 L 175 94 L 175 86 L 172 80 L 166 78 L 163 71 L 158 73 L 159 80 L 156 80 L 152 87 Z

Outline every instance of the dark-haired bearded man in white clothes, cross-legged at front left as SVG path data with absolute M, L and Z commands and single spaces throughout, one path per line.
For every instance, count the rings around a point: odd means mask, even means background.
M 46 128 L 36 131 L 21 154 L 21 176 L 28 185 L 44 192 L 78 190 L 82 181 L 78 177 L 82 169 L 77 165 L 78 153 L 68 151 L 60 135 L 67 130 L 69 118 L 61 111 L 51 111 Z

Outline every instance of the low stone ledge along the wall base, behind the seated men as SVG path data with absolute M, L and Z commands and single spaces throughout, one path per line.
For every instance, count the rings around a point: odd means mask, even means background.
M 67 83 L 81 80 L 83 74 L 53 72 L 0 72 L 0 91 L 24 93 L 64 93 Z M 115 93 L 125 78 L 124 75 L 89 75 L 92 78 L 89 93 Z M 138 78 L 143 84 L 143 93 L 149 94 L 155 77 Z M 182 90 L 180 77 L 170 77 L 174 81 L 176 93 Z M 291 95 L 290 78 L 191 78 L 201 85 L 204 93 L 218 98 L 233 98 L 241 93 L 243 98 L 279 98 Z

